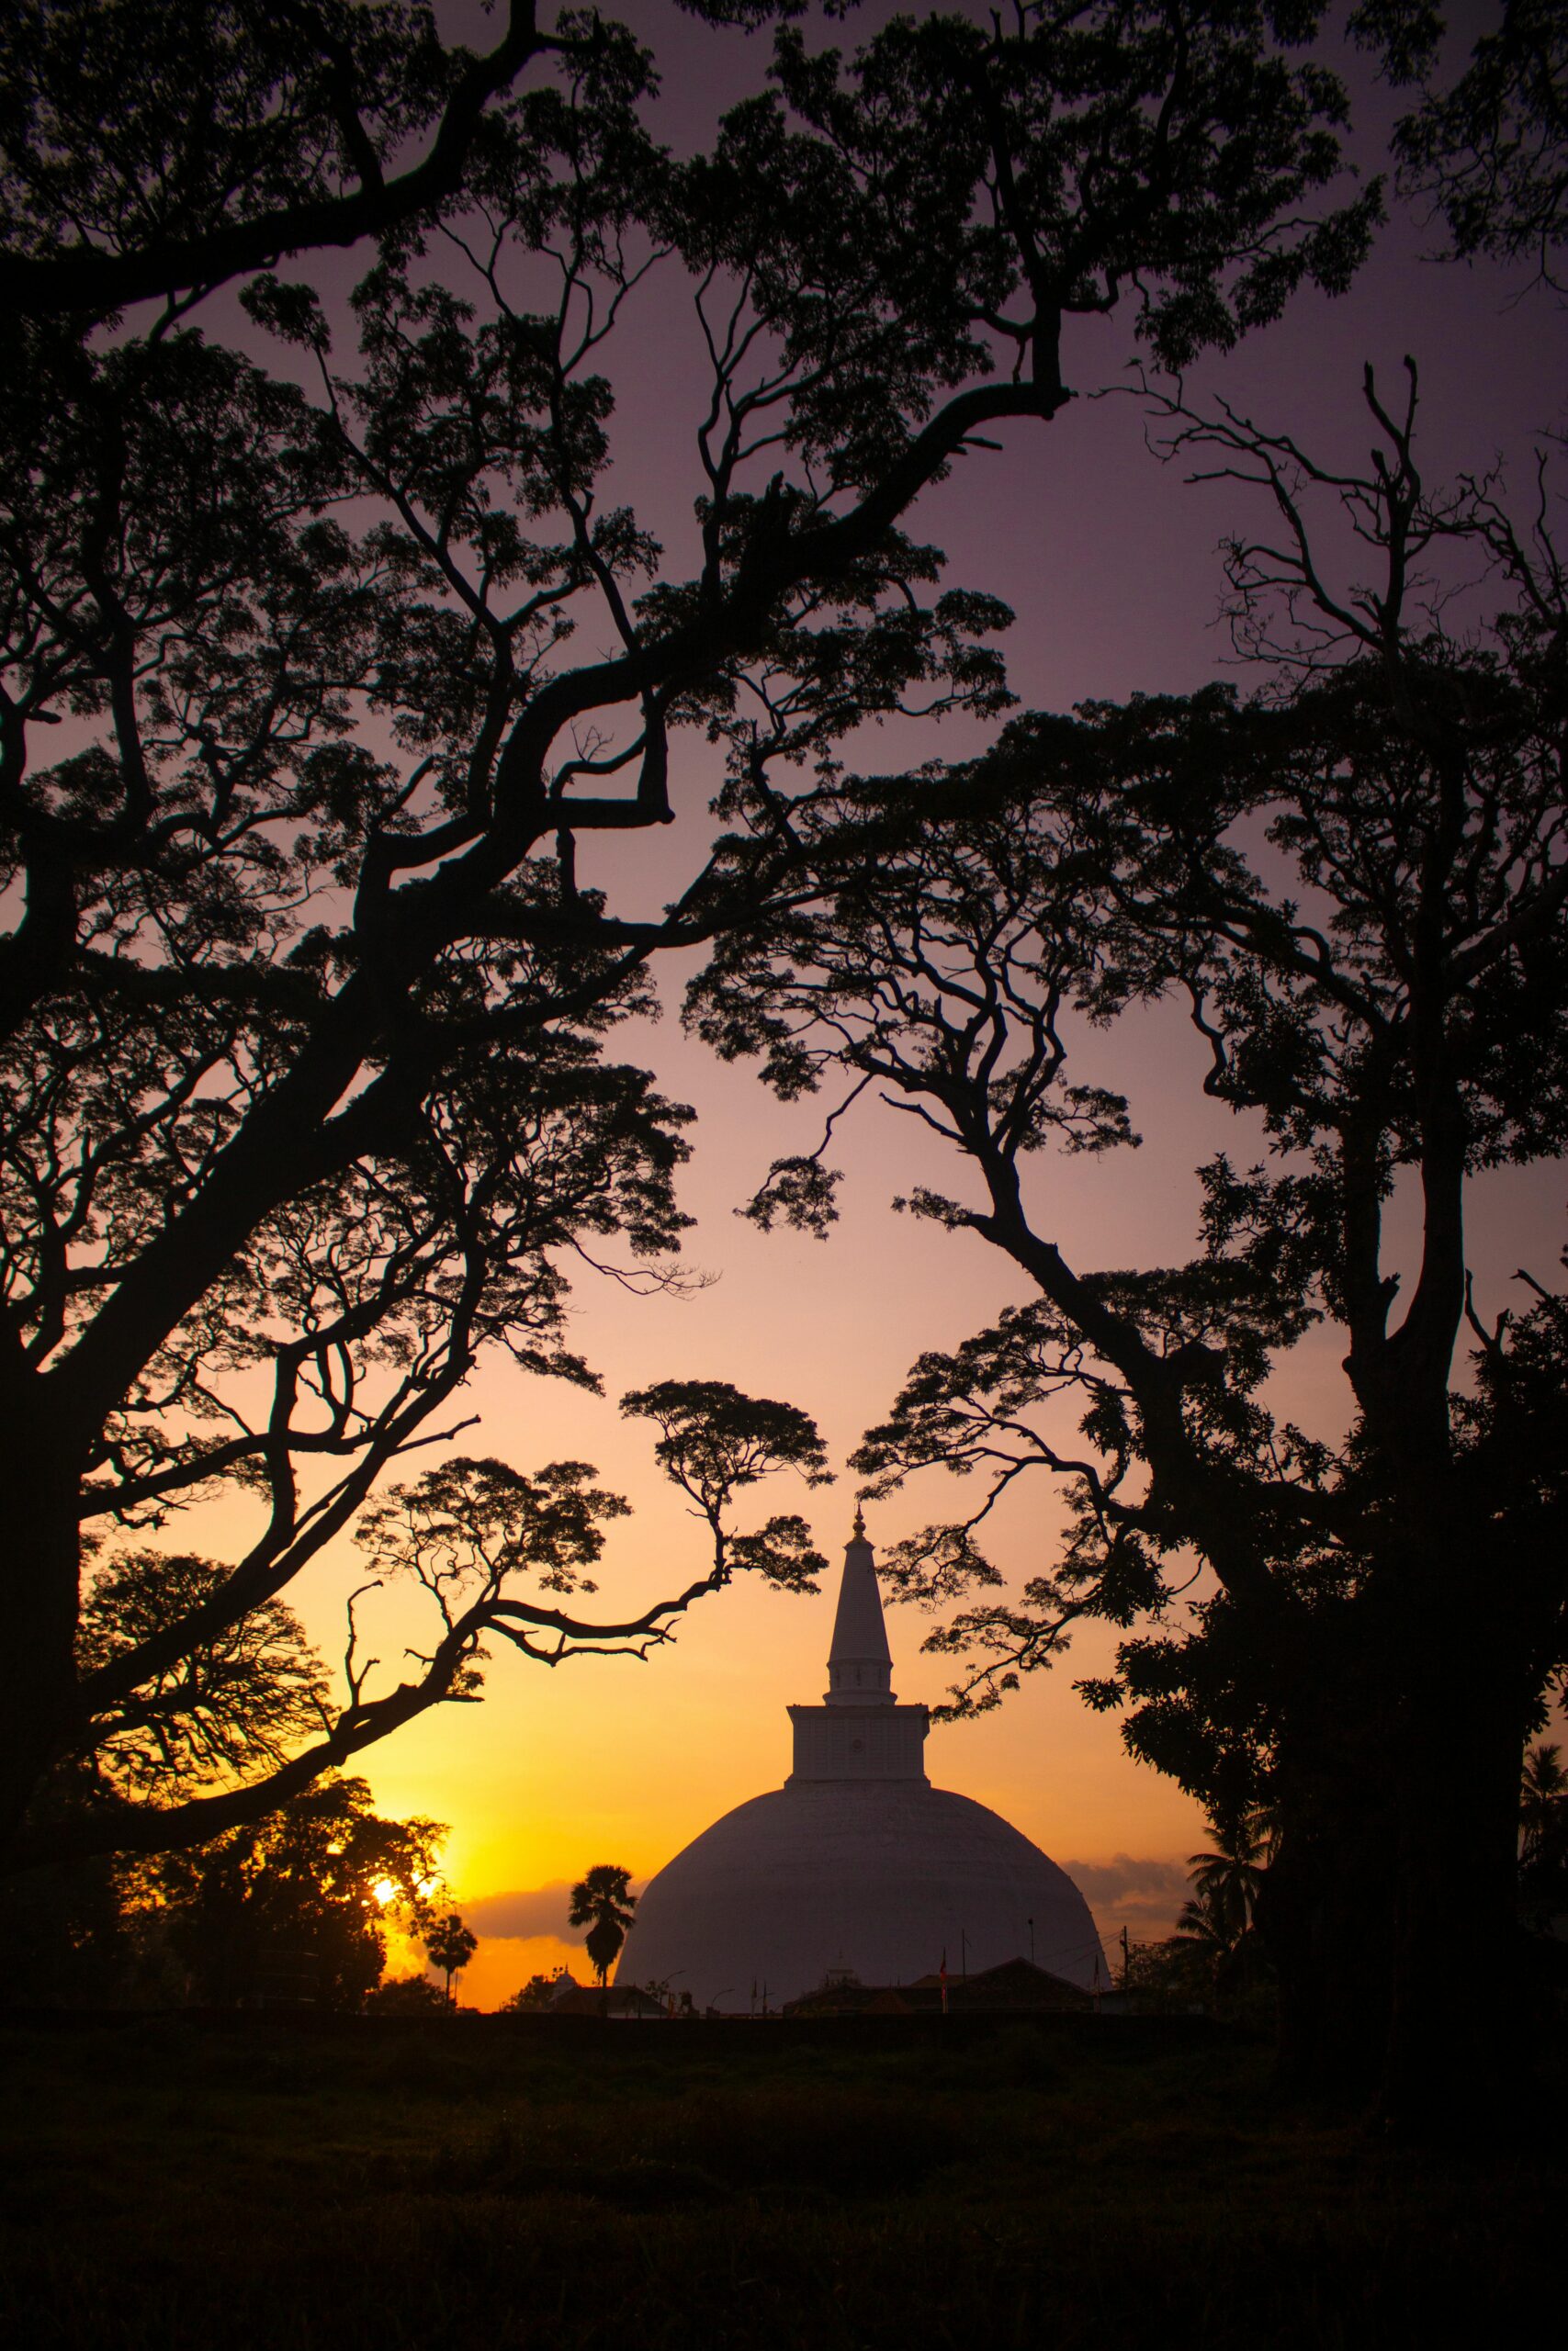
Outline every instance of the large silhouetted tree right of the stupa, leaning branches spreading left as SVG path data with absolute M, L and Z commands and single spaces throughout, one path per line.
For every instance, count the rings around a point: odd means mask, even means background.
M 914 1112 L 969 1190 L 907 1206 L 1032 1288 L 922 1357 L 858 1458 L 877 1491 L 926 1465 L 985 1483 L 886 1563 L 926 1601 L 999 1582 L 980 1528 L 1018 1479 L 1072 1498 L 1063 1559 L 929 1643 L 978 1657 L 954 1704 L 994 1702 L 1084 1615 L 1154 1617 L 1084 1688 L 1131 1700 L 1135 1751 L 1204 1803 L 1274 1813 L 1260 1925 L 1291 2069 L 1382 2076 L 1389 2111 L 1453 2121 L 1512 2064 L 1514 2017 L 1474 1987 L 1512 1963 L 1519 1756 L 1568 1622 L 1568 1302 L 1526 1270 L 1483 1317 L 1465 1223 L 1479 1176 L 1568 1140 L 1568 578 L 1544 510 L 1521 531 L 1493 484 L 1429 496 L 1413 374 L 1399 409 L 1366 397 L 1361 475 L 1166 409 L 1194 465 L 1272 501 L 1279 529 L 1229 550 L 1265 694 L 1018 719 L 969 769 L 830 785 L 795 813 L 830 903 L 722 945 L 691 1018 L 785 1096 L 832 1079 Z M 1319 494 L 1375 555 L 1368 585 L 1338 585 Z M 1450 632 L 1422 581 L 1443 550 L 1483 560 L 1486 632 Z M 1267 1157 L 1199 1168 L 1190 1262 L 1081 1267 L 1030 1168 L 1135 1140 L 1117 1086 L 1077 1072 L 1147 1002 L 1185 1006 L 1194 1084 Z M 1422 1204 L 1408 1281 L 1396 1185 Z M 752 1213 L 825 1230 L 825 1143 Z M 1324 1328 L 1345 1439 L 1265 1387 Z M 1213 1582 L 1178 1610 L 1194 1568 Z

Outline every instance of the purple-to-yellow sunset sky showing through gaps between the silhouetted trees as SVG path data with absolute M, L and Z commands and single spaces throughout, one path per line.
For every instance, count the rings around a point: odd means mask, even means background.
M 762 75 L 766 33 L 717 33 L 654 0 L 616 14 L 656 49 L 663 99 L 654 129 L 675 146 L 703 141 L 717 113 Z M 809 19 L 806 38 L 853 42 L 891 14 L 863 7 L 839 28 Z M 1450 9 L 1455 52 L 1483 14 Z M 440 19 L 447 38 L 475 45 L 487 38 L 475 7 L 451 5 Z M 1356 92 L 1352 153 L 1373 172 L 1401 101 L 1371 82 L 1366 61 L 1352 52 L 1342 71 Z M 1434 228 L 1394 209 L 1347 296 L 1298 294 L 1279 324 L 1225 360 L 1206 360 L 1187 390 L 1220 393 L 1319 458 L 1363 458 L 1361 369 L 1371 362 L 1394 386 L 1410 353 L 1420 367 L 1427 477 L 1486 470 L 1502 458 L 1512 491 L 1526 501 L 1533 451 L 1542 433 L 1563 423 L 1563 310 L 1549 292 L 1530 287 L 1526 270 L 1429 259 L 1436 242 Z M 341 296 L 357 261 L 317 259 L 313 282 Z M 233 294 L 209 308 L 228 327 Z M 1128 386 L 1133 357 L 1131 306 L 1110 320 L 1070 322 L 1065 376 L 1079 397 L 1067 411 L 1051 426 L 1001 428 L 999 449 L 966 456 L 905 517 L 912 536 L 945 548 L 954 585 L 1013 607 L 1006 661 L 1025 708 L 1187 691 L 1227 675 L 1215 548 L 1229 529 L 1248 524 L 1246 491 L 1227 482 L 1192 487 L 1180 465 L 1150 454 L 1140 400 L 1114 390 Z M 607 498 L 637 505 L 679 574 L 682 548 L 693 538 L 691 449 L 705 369 L 689 287 L 675 263 L 632 296 L 607 371 L 618 400 Z M 976 722 L 900 722 L 865 729 L 849 759 L 900 769 L 957 757 L 980 741 Z M 719 752 L 701 736 L 677 736 L 670 778 L 677 823 L 585 837 L 583 884 L 609 886 L 628 915 L 658 912 L 708 844 L 705 809 L 717 778 Z M 682 978 L 668 966 L 661 973 L 672 1011 Z M 599 1575 L 614 1610 L 644 1603 L 703 1566 L 701 1528 L 656 1476 L 646 1427 L 614 1408 L 623 1389 L 661 1378 L 724 1378 L 788 1399 L 816 1415 L 842 1472 L 914 1354 L 954 1345 L 1018 1295 L 999 1253 L 891 1211 L 891 1197 L 922 1180 L 947 1190 L 954 1183 L 952 1164 L 940 1164 L 938 1145 L 912 1119 L 863 1103 L 844 1121 L 832 1152 L 846 1171 L 842 1220 L 827 1244 L 783 1230 L 766 1237 L 733 1208 L 771 1159 L 813 1147 L 820 1107 L 783 1110 L 750 1070 L 724 1070 L 684 1039 L 675 1018 L 639 1041 L 623 1032 L 621 1053 L 642 1053 L 661 1086 L 698 1110 L 682 1204 L 696 1218 L 686 1265 L 705 1284 L 686 1295 L 632 1295 L 583 1270 L 571 1342 L 602 1375 L 604 1399 L 496 1361 L 465 1389 L 463 1415 L 473 1425 L 458 1439 L 461 1451 L 498 1453 L 520 1469 L 590 1460 L 607 1486 L 630 1498 L 635 1516 L 611 1528 Z M 1175 1009 L 1121 1020 L 1088 1046 L 1079 1074 L 1126 1091 L 1145 1140 L 1138 1152 L 1034 1161 L 1034 1197 L 1051 1199 L 1046 1223 L 1070 1258 L 1119 1265 L 1192 1251 L 1194 1166 L 1220 1147 L 1237 1157 L 1246 1150 L 1239 1121 L 1204 1100 L 1201 1067 L 1201 1041 Z M 1561 1168 L 1486 1178 L 1472 1225 L 1483 1312 L 1507 1302 L 1516 1265 L 1549 1272 L 1561 1237 Z M 1335 1357 L 1333 1335 L 1307 1338 L 1293 1352 L 1279 1389 L 1293 1415 L 1324 1427 L 1326 1415 L 1342 1411 L 1347 1392 Z M 839 1474 L 837 1486 L 788 1493 L 780 1481 L 757 1509 L 804 1509 L 837 1575 L 853 1483 Z M 882 1502 L 867 1531 L 889 1545 L 933 1516 L 940 1516 L 936 1491 L 910 1488 Z M 1013 1500 L 994 1533 L 997 1563 L 1030 1573 L 1048 1554 L 1056 1526 L 1044 1488 Z M 193 1542 L 190 1519 L 176 1540 Z M 214 1556 L 233 1556 L 240 1540 L 237 1526 L 202 1528 Z M 292 1592 L 329 1657 L 341 1653 L 350 1580 L 357 1559 L 350 1545 L 339 1545 Z M 813 1700 L 823 1686 L 830 1608 L 830 1592 L 816 1601 L 788 1599 L 743 1580 L 693 1610 L 677 1643 L 646 1665 L 578 1657 L 543 1672 L 501 1653 L 487 1674 L 484 1704 L 440 1707 L 364 1754 L 360 1768 L 381 1810 L 451 1822 L 451 1890 L 484 1937 L 463 1980 L 465 2001 L 494 2005 L 529 1972 L 567 1956 L 567 1888 L 588 1864 L 621 1862 L 642 1878 L 722 1810 L 778 1784 L 788 1770 L 783 1707 Z M 905 1700 L 943 1695 L 940 1660 L 919 1655 L 926 1629 L 914 1610 L 891 1615 L 896 1688 Z M 388 1608 L 374 1646 L 395 1657 L 397 1641 L 397 1615 Z M 1063 1669 L 1027 1681 L 980 1721 L 938 1728 L 929 1747 L 938 1784 L 994 1806 L 1053 1857 L 1086 1864 L 1077 1876 L 1107 1940 L 1124 1921 L 1135 1937 L 1168 1928 L 1185 1855 L 1204 1838 L 1197 1806 L 1124 1754 L 1114 1714 L 1093 1716 L 1072 1693 L 1077 1674 L 1105 1669 L 1112 1646 L 1114 1634 L 1093 1627 Z M 583 1972 L 581 1951 L 571 1956 Z M 1039 1956 L 1048 1963 L 1048 1954 Z

